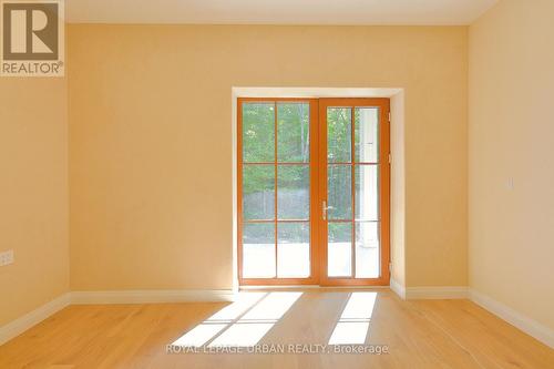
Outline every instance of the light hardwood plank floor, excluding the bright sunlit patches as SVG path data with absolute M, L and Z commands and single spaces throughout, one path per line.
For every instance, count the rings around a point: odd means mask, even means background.
M 351 291 L 302 295 L 260 344 L 322 344 Z M 377 293 L 366 344 L 388 355 L 166 353 L 227 304 L 70 306 L 0 347 L 0 368 L 554 368 L 554 350 L 468 300 Z

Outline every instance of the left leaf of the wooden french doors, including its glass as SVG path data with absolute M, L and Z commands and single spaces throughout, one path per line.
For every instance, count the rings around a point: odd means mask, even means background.
M 238 277 L 317 284 L 318 102 L 238 99 Z

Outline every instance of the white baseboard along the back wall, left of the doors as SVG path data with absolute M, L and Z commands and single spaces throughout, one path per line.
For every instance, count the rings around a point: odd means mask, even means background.
M 71 304 L 163 304 L 233 301 L 232 289 L 133 289 L 71 293 Z

